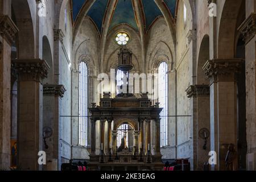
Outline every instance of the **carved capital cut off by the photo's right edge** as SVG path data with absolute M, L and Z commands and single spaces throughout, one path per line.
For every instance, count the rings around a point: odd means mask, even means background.
M 245 44 L 249 43 L 251 39 L 254 38 L 256 34 L 256 14 L 251 14 L 238 28 L 243 36 L 243 41 Z

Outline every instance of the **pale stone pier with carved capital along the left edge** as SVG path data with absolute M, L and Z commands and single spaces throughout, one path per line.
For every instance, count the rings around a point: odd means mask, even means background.
M 3 2 L 2 2 L 3 3 Z M 5 2 L 6 3 L 6 2 Z M 3 5 L 3 4 L 2 4 Z M 11 44 L 18 28 L 8 15 L 0 15 L 0 168 L 11 162 Z

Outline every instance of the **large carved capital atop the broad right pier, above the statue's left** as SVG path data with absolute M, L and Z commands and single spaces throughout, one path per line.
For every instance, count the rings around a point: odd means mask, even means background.
M 211 81 L 234 81 L 236 73 L 240 72 L 243 61 L 241 59 L 208 60 L 203 70 Z

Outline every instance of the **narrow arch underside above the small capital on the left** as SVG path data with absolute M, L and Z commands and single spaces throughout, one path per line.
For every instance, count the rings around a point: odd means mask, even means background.
M 43 36 L 43 59 L 46 60 L 47 64 L 49 65 L 49 72 L 48 77 L 43 80 L 46 84 L 53 84 L 54 82 L 54 68 L 53 68 L 53 61 L 52 61 L 52 51 L 51 46 L 49 44 L 49 40 L 46 35 Z

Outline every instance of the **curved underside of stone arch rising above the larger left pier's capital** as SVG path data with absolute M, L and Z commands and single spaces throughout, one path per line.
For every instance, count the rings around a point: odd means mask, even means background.
M 14 11 L 16 26 L 18 32 L 18 55 L 19 59 L 35 58 L 35 34 L 32 15 L 28 1 L 15 0 L 11 1 L 12 10 Z

